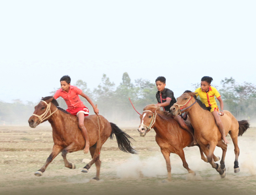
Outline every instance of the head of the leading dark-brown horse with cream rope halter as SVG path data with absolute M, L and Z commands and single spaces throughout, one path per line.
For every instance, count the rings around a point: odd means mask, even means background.
M 28 120 L 29 126 L 36 128 L 40 123 L 47 121 L 58 110 L 56 106 L 58 106 L 58 103 L 53 96 L 42 97 L 39 104 L 35 106 L 34 113 Z

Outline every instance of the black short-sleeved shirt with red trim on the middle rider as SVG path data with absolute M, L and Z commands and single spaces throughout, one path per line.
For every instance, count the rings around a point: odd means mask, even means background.
M 177 102 L 173 95 L 173 91 L 167 88 L 164 88 L 161 94 L 160 94 L 160 91 L 156 92 L 156 99 L 159 104 L 166 102 L 167 98 L 171 99 L 170 105 L 164 106 L 163 108 L 165 111 L 170 112 L 170 108 L 172 107 L 172 105 Z

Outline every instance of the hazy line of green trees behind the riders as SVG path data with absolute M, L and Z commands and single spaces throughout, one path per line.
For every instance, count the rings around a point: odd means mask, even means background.
M 118 86 L 111 82 L 106 74 L 102 75 L 100 84 L 93 90 L 89 89 L 83 80 L 76 81 L 74 85 L 83 90 L 94 104 L 98 104 L 101 115 L 123 127 L 139 125 L 139 115 L 133 110 L 128 97 L 131 98 L 137 111 L 142 111 L 148 104 L 157 103 L 156 84 L 142 78 L 136 79 L 133 83 L 128 73 L 123 74 L 122 82 Z M 225 110 L 229 110 L 237 119 L 255 118 L 256 86 L 254 84 L 237 83 L 230 77 L 222 80 L 220 85 L 221 87 L 214 87 L 220 92 Z M 199 86 L 199 83 L 192 85 L 195 89 Z M 54 95 L 58 89 L 51 91 L 50 95 Z M 90 114 L 93 114 L 89 103 L 83 97 L 80 96 L 80 98 L 89 108 Z M 34 106 L 38 104 L 33 102 L 24 104 L 19 99 L 13 101 L 13 103 L 0 101 L 0 124 L 26 124 L 34 112 Z M 60 107 L 67 109 L 63 98 L 60 97 L 57 101 Z

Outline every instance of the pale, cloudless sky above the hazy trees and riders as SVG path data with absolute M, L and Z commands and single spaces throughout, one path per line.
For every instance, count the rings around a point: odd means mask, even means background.
M 256 84 L 255 1 L 1 1 L 0 101 L 38 102 L 68 74 L 127 72 L 179 97 L 203 76 Z

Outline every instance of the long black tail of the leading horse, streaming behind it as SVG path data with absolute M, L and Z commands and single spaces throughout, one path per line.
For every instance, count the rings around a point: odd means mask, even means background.
M 116 135 L 116 141 L 118 144 L 118 148 L 124 152 L 129 152 L 131 154 L 136 154 L 136 150 L 132 148 L 132 143 L 129 139 L 134 140 L 132 137 L 130 137 L 127 133 L 124 133 L 119 127 L 116 126 L 116 124 L 110 122 L 112 132 L 109 136 L 110 139 L 113 139 L 113 134 Z M 135 141 L 135 140 L 134 140 Z

